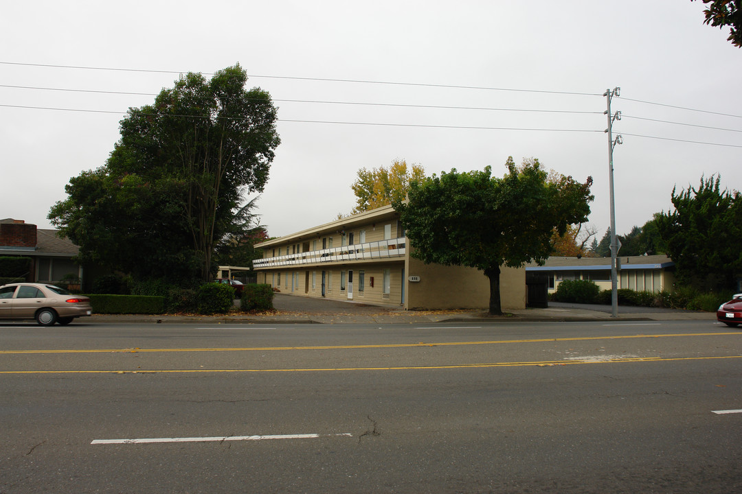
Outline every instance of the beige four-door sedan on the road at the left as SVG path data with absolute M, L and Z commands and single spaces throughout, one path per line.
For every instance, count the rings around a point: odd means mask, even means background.
M 0 287 L 0 319 L 36 319 L 42 326 L 70 324 L 93 313 L 91 299 L 44 283 L 11 283 Z

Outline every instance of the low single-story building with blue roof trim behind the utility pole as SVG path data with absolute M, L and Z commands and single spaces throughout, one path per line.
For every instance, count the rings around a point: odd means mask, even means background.
M 637 292 L 672 290 L 675 263 L 661 256 L 618 256 L 618 288 Z M 564 280 L 591 280 L 601 290 L 611 290 L 611 258 L 550 257 L 543 266 L 526 265 L 526 273 L 548 278 L 548 292 L 553 293 Z

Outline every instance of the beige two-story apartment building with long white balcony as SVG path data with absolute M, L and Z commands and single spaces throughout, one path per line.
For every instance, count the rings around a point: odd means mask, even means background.
M 398 214 L 380 207 L 256 244 L 257 282 L 281 293 L 392 304 L 410 310 L 486 309 L 479 270 L 424 264 L 410 256 Z M 525 270 L 502 268 L 504 309 L 525 307 Z

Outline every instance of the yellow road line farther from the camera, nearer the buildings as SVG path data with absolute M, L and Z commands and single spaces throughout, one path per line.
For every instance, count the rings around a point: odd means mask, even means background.
M 99 350 L 0 350 L 0 355 L 17 355 L 31 353 L 178 353 L 178 352 L 268 352 L 278 350 L 363 350 L 370 348 L 414 348 L 414 347 L 451 347 L 458 345 L 488 345 L 514 343 L 551 343 L 555 341 L 594 341 L 619 340 L 632 338 L 680 338 L 685 336 L 742 336 L 742 332 L 728 333 L 676 333 L 669 335 L 627 335 L 627 336 L 582 336 L 574 338 L 537 338 L 522 340 L 493 341 L 442 341 L 430 343 L 399 344 L 357 344 L 357 345 L 321 345 L 306 347 L 243 347 L 243 348 L 114 348 Z

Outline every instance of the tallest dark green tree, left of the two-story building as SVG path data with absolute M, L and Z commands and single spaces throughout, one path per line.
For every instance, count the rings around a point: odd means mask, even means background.
M 210 278 L 214 252 L 243 230 L 243 198 L 263 190 L 280 143 L 269 94 L 246 81 L 239 64 L 209 80 L 188 73 L 154 104 L 129 109 L 105 166 L 70 180 L 50 212 L 83 259 L 136 273 L 129 257 L 144 249 L 168 271 L 180 265 L 178 278 Z

